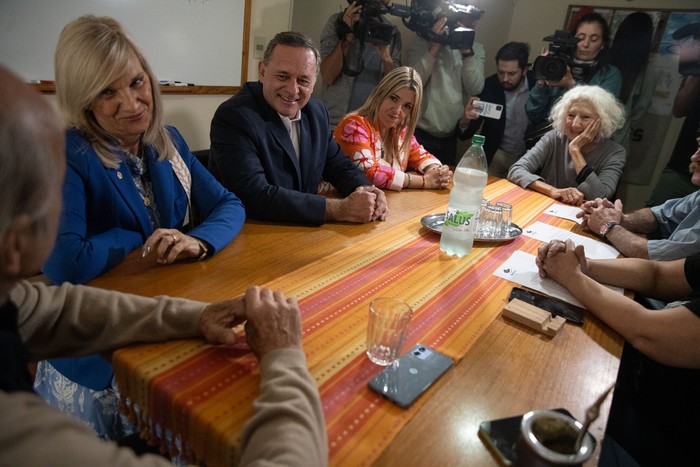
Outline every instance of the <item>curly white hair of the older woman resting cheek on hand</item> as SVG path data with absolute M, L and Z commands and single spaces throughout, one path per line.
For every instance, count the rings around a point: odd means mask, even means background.
M 566 114 L 575 102 L 588 102 L 600 117 L 600 133 L 597 140 L 607 139 L 625 123 L 625 107 L 615 96 L 600 86 L 578 85 L 561 96 L 549 113 L 552 128 L 564 135 Z

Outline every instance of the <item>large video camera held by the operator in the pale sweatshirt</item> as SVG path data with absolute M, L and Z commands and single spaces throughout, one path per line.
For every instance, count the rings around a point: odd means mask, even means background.
M 473 5 L 464 5 L 454 0 L 411 0 L 410 16 L 403 22 L 408 29 L 425 40 L 449 45 L 453 49 L 471 49 L 474 45 L 474 30 L 460 26 L 480 19 L 484 12 Z M 433 32 L 433 25 L 447 18 L 447 33 Z

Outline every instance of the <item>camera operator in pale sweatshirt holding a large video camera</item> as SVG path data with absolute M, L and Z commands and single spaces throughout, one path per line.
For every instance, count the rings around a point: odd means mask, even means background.
M 474 26 L 483 11 L 466 1 L 424 0 L 435 19 L 408 51 L 408 63 L 423 79 L 423 105 L 415 135 L 443 164 L 457 164 L 455 122 L 469 96 L 484 87 L 484 46 L 474 42 Z M 430 4 L 430 8 L 428 5 Z M 413 16 L 412 16 L 413 19 Z M 409 28 L 411 25 L 409 24 Z

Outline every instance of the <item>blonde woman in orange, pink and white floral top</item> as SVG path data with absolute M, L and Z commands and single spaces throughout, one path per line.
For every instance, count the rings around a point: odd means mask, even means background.
M 335 129 L 343 152 L 379 188 L 437 190 L 450 184 L 449 167 L 413 136 L 422 95 L 418 73 L 410 67 L 395 68 Z

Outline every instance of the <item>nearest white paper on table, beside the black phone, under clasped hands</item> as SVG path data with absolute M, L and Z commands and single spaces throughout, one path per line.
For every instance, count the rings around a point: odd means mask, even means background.
M 585 308 L 566 287 L 559 285 L 554 279 L 549 277 L 544 279 L 540 277 L 537 264 L 535 263 L 535 256 L 524 251 L 515 251 L 510 258 L 493 272 L 493 275 L 545 293 L 572 305 Z M 613 292 L 624 293 L 624 290 L 620 287 L 603 285 Z

